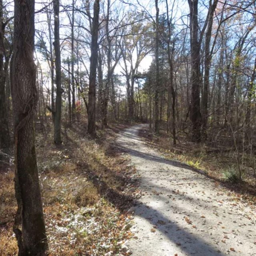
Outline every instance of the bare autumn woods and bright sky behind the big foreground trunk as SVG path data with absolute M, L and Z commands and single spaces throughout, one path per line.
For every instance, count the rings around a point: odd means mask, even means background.
M 79 144 L 113 124 L 148 122 L 146 139 L 168 156 L 255 194 L 254 0 L 46 0 L 35 8 L 38 152 L 48 145 L 53 159 L 68 134 Z M 17 110 L 14 20 L 14 2 L 0 0 L 4 164 Z

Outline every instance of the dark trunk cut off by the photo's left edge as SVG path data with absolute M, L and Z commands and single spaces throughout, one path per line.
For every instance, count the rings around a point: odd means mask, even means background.
M 3 1 L 0 0 L 0 148 L 8 148 L 10 146 L 10 134 L 5 93 L 6 73 L 8 71 L 10 56 L 5 58 L 4 63 L 4 30 L 5 24 L 3 22 Z

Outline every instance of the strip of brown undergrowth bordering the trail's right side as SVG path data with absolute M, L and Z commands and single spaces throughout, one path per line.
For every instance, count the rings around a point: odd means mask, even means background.
M 244 161 L 242 180 L 240 180 L 234 151 L 223 151 L 206 144 L 188 142 L 185 138 L 180 138 L 178 143 L 173 145 L 171 135 L 165 131 L 156 135 L 144 129 L 140 131 L 140 135 L 151 147 L 160 150 L 166 158 L 182 162 L 194 170 L 202 170 L 206 176 L 242 194 L 242 198 L 256 203 L 254 170 Z M 245 156 L 244 159 L 246 159 Z

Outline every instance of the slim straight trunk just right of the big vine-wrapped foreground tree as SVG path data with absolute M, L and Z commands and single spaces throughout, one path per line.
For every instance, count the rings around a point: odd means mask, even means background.
M 60 63 L 60 0 L 54 0 L 54 50 L 56 66 L 56 110 L 54 120 L 54 143 L 61 144 L 61 63 Z

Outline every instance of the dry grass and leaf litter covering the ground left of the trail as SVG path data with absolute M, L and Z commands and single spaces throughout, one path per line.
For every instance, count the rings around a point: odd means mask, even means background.
M 118 129 L 118 128 L 116 128 Z M 112 144 L 112 129 L 95 140 L 82 124 L 62 134 L 63 144 L 36 138 L 38 171 L 50 256 L 129 255 L 122 244 L 132 236 L 124 226 L 131 216 L 128 159 Z M 0 170 L 0 255 L 17 255 L 12 224 L 16 212 L 13 170 Z

